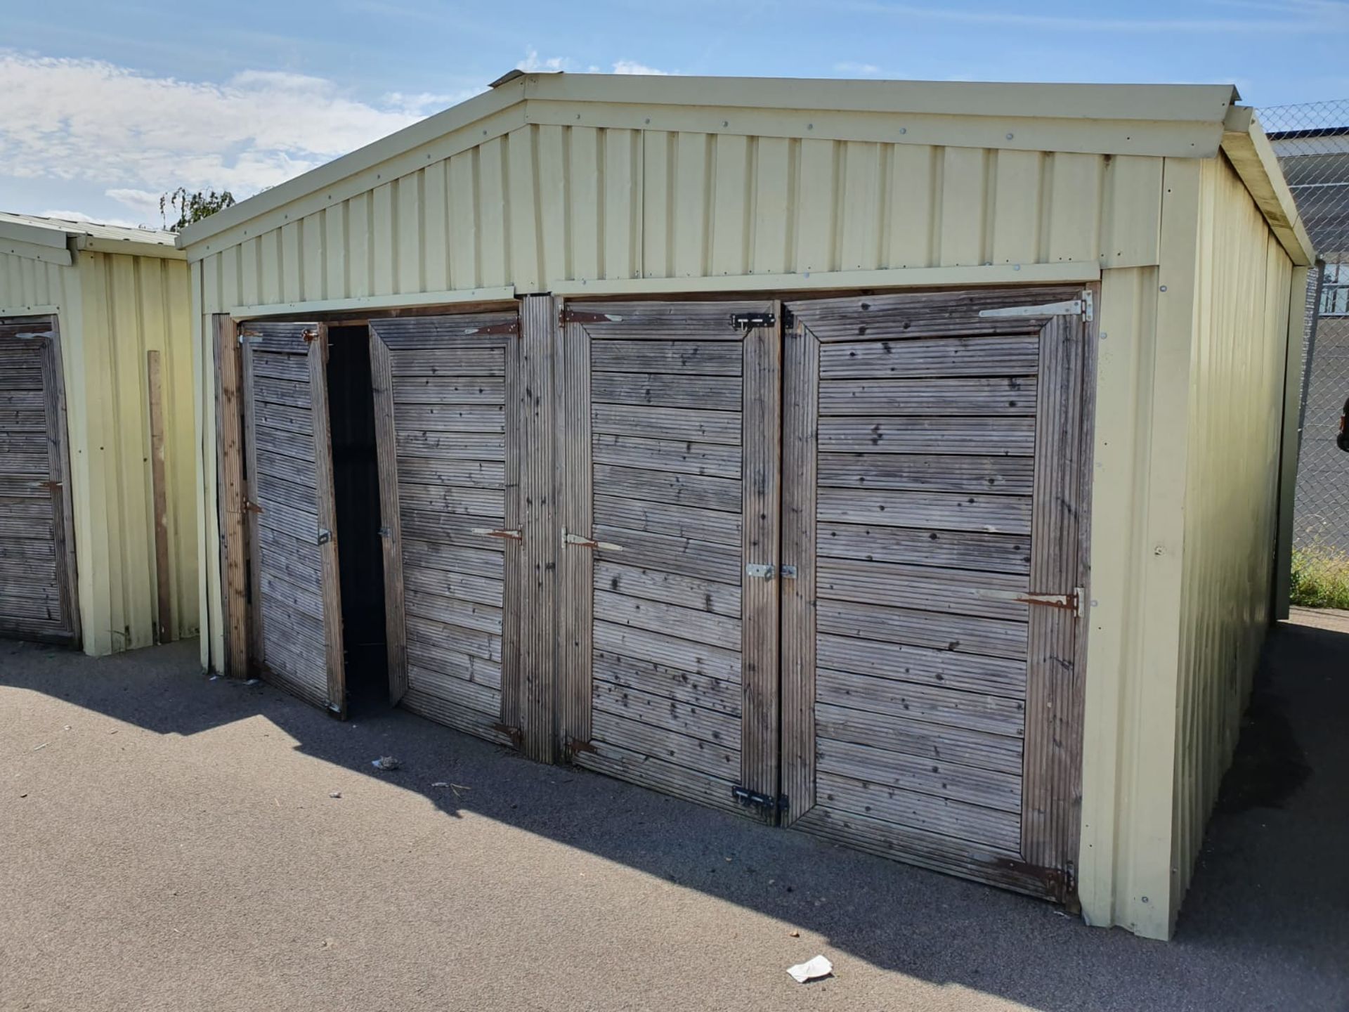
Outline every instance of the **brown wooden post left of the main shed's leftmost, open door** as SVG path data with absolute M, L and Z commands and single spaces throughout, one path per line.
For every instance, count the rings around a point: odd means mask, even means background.
M 220 572 L 225 626 L 225 675 L 247 677 L 248 619 L 244 596 L 244 490 L 240 420 L 239 341 L 233 320 L 217 313 L 216 348 L 216 460 L 220 468 Z

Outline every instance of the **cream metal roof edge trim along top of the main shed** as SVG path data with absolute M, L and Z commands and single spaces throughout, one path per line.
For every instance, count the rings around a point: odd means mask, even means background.
M 374 186 L 387 175 L 374 170 L 387 162 L 449 135 L 467 143 L 479 124 L 496 130 L 509 120 L 1167 158 L 1214 158 L 1222 150 L 1290 255 L 1310 262 L 1278 159 L 1238 99 L 1233 85 L 506 74 L 483 94 L 189 225 L 178 246 L 223 232 L 232 235 L 206 248 L 233 244 L 246 235 L 240 227 L 263 215 L 305 198 L 324 202 L 326 188 L 349 189 L 353 177 L 370 174 Z

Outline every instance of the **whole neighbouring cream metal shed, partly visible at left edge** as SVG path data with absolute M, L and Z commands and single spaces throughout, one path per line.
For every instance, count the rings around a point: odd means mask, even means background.
M 171 232 L 0 213 L 0 636 L 196 634 L 188 282 Z

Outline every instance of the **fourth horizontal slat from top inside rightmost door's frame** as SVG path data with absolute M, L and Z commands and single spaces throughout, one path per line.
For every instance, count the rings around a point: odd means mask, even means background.
M 820 453 L 816 474 L 819 484 L 826 488 L 911 488 L 1029 495 L 1035 480 L 1035 459 Z

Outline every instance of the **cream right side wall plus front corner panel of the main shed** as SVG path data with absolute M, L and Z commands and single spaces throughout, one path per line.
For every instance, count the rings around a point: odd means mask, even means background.
M 1102 275 L 1079 884 L 1170 936 L 1268 622 L 1292 264 L 1224 158 L 1167 159 Z

